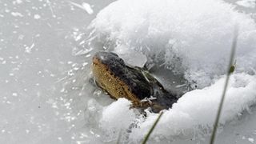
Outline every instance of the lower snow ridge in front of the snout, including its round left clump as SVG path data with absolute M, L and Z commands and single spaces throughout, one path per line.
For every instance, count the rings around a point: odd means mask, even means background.
M 170 110 L 165 110 L 161 121 L 151 138 L 198 138 L 210 134 L 222 94 L 225 78 L 220 78 L 212 86 L 190 91 L 179 98 Z M 256 102 L 256 77 L 249 74 L 234 74 L 226 93 L 220 124 L 234 121 L 244 110 L 250 110 Z M 118 99 L 110 106 L 102 107 L 98 119 L 106 139 L 115 140 L 119 132 L 131 129 L 129 141 L 138 142 L 150 130 L 158 114 L 146 111 L 146 118 L 130 109 L 130 102 Z M 94 113 L 94 117 L 98 117 Z M 134 126 L 134 127 L 129 127 Z M 178 136 L 178 137 L 177 137 Z M 123 140 L 124 141 L 124 140 Z

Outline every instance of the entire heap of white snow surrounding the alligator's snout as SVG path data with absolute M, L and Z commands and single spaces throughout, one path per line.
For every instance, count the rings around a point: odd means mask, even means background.
M 91 23 L 90 44 L 125 55 L 126 61 L 144 62 L 145 58 L 134 60 L 130 55 L 136 50 L 195 82 L 201 90 L 186 93 L 166 110 L 152 136 L 193 138 L 208 134 L 213 125 L 236 24 L 237 66 L 227 91 L 223 125 L 256 103 L 256 27 L 249 15 L 219 0 L 119 0 Z M 94 115 L 106 139 L 117 139 L 120 130 L 132 126 L 126 138 L 138 142 L 152 126 L 157 114 L 138 116 L 129 104 L 121 99 Z

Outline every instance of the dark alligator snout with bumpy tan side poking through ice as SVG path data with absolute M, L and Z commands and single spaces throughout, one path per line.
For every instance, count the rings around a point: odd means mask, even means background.
M 95 81 L 111 98 L 127 98 L 134 107 L 151 107 L 154 112 L 168 109 L 177 98 L 163 89 L 162 85 L 150 75 L 146 77 L 142 69 L 126 66 L 122 58 L 111 52 L 98 52 L 94 55 L 93 74 Z M 147 74 L 149 75 L 149 74 Z M 150 81 L 148 79 L 151 79 Z M 153 96 L 150 102 L 141 102 Z

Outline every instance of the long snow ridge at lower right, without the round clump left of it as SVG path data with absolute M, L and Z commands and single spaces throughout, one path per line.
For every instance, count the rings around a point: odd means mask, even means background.
M 182 134 L 190 137 L 191 134 L 205 134 L 210 132 L 213 126 L 216 111 L 225 78 L 220 78 L 214 85 L 202 90 L 193 90 L 182 96 L 172 110 L 167 110 L 154 131 L 154 136 L 172 136 Z M 256 102 L 256 77 L 248 74 L 234 74 L 230 79 L 230 87 L 226 94 L 221 124 L 238 118 L 243 110 Z M 138 138 L 140 134 L 146 134 L 157 114 L 149 114 L 150 117 L 142 122 L 138 129 L 134 130 L 132 138 Z M 193 136 L 193 135 L 192 135 Z

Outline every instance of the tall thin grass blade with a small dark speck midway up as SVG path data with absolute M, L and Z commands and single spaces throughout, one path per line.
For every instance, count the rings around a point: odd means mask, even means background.
M 238 27 L 236 26 L 235 30 L 234 30 L 234 38 L 233 38 L 232 48 L 231 48 L 231 53 L 230 53 L 230 63 L 229 63 L 229 67 L 228 67 L 227 74 L 226 74 L 226 81 L 225 81 L 224 89 L 222 91 L 221 102 L 219 103 L 217 116 L 216 116 L 216 119 L 215 119 L 215 122 L 214 122 L 214 130 L 213 130 L 213 132 L 211 134 L 211 137 L 210 137 L 210 144 L 214 144 L 216 131 L 217 131 L 217 128 L 218 128 L 218 122 L 219 122 L 219 118 L 220 118 L 221 113 L 222 113 L 222 106 L 223 106 L 223 103 L 224 103 L 224 100 L 225 100 L 226 89 L 227 89 L 227 86 L 228 86 L 229 81 L 230 81 L 230 75 L 234 72 L 234 54 L 235 54 L 235 49 L 236 49 L 236 46 L 237 46 L 237 41 L 238 41 Z

